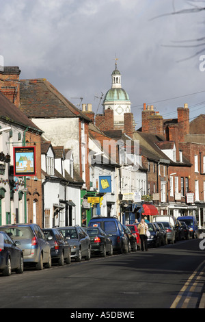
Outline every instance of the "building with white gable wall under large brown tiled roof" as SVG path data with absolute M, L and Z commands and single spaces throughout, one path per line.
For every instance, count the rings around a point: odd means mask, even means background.
M 20 110 L 43 130 L 45 140 L 51 141 L 53 147 L 63 146 L 65 150 L 72 150 L 74 171 L 83 180 L 81 194 L 86 194 L 90 190 L 87 162 L 90 119 L 46 79 L 20 80 Z M 67 195 L 67 199 L 71 197 Z M 81 225 L 79 211 L 75 223 Z

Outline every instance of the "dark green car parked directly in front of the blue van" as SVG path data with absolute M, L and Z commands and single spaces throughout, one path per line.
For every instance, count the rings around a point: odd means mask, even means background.
M 106 254 L 113 255 L 113 243 L 100 227 L 84 227 L 84 229 L 90 236 L 92 253 L 100 253 L 102 257 Z

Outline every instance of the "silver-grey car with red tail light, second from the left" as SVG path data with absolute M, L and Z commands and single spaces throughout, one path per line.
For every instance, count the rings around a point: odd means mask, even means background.
M 51 267 L 51 247 L 46 241 L 44 233 L 36 223 L 18 223 L 3 225 L 0 230 L 6 232 L 14 243 L 18 243 L 23 250 L 24 264 L 35 265 L 40 270 Z

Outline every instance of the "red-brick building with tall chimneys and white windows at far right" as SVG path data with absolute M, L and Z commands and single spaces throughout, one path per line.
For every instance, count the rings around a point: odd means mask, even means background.
M 158 203 L 161 214 L 172 214 L 176 217 L 193 214 L 197 217 L 200 227 L 204 227 L 205 136 L 195 134 L 199 124 L 197 119 L 195 128 L 192 123 L 190 130 L 187 104 L 178 108 L 177 112 L 177 119 L 164 120 L 159 112 L 154 112 L 153 106 L 144 104 L 142 126 L 134 137 L 142 136 L 145 139 L 140 140 L 140 145 L 148 149 L 144 151 L 145 162 L 149 164 L 149 169 L 152 169 L 148 171 L 148 183 L 155 186 L 157 184 L 158 189 L 156 190 L 155 187 L 155 190 L 158 195 L 154 195 L 154 198 L 157 197 L 155 203 Z M 204 117 L 200 116 L 201 125 L 203 120 Z M 158 153 L 164 153 L 164 157 L 159 160 L 156 158 L 157 148 L 159 148 Z M 152 160 L 150 152 L 153 151 L 155 159 Z M 150 162 L 153 162 L 151 168 Z M 164 179 L 162 179 L 161 166 L 165 169 Z M 155 177 L 154 167 L 157 169 Z M 152 191 L 151 188 L 150 193 Z

